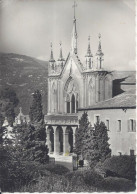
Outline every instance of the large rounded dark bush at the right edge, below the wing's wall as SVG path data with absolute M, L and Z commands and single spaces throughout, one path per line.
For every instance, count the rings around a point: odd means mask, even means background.
M 99 163 L 95 169 L 101 169 L 107 176 L 122 177 L 135 182 L 136 180 L 136 158 L 135 156 L 112 156 Z

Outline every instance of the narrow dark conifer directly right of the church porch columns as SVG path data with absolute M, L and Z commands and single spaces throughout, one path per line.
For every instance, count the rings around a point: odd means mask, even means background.
M 89 126 L 88 121 L 88 114 L 84 112 L 81 119 L 79 120 L 79 127 L 76 130 L 76 143 L 75 143 L 75 150 L 78 155 L 84 155 L 84 134 L 87 131 Z

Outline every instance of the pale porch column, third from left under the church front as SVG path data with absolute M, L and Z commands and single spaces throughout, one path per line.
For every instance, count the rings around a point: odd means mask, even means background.
M 67 127 L 62 127 L 63 129 L 63 155 L 66 156 L 70 152 L 70 145 L 68 142 L 68 132 Z

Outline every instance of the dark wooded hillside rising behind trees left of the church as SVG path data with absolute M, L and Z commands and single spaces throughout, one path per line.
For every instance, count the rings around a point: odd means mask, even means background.
M 19 54 L 0 53 L 0 88 L 14 88 L 23 113 L 28 114 L 32 93 L 39 89 L 43 99 L 43 111 L 47 112 L 48 63 Z

